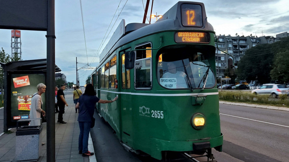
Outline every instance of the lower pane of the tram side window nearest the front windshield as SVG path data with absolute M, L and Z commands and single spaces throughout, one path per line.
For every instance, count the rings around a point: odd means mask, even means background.
M 151 88 L 151 58 L 139 59 L 135 61 L 135 88 Z

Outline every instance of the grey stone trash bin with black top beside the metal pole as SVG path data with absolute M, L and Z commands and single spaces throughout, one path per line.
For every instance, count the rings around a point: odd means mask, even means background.
M 41 154 L 42 125 L 19 126 L 20 123 L 27 123 L 37 119 L 21 119 L 17 121 L 16 128 L 16 160 L 37 161 Z

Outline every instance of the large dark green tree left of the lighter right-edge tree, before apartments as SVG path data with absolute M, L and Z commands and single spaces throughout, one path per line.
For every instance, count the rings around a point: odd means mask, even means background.
M 238 78 L 247 82 L 258 80 L 261 84 L 269 83 L 273 58 L 274 50 L 271 44 L 260 44 L 248 49 L 238 64 Z

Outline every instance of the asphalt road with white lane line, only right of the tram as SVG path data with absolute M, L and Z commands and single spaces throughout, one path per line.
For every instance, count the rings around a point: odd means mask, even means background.
M 220 118 L 225 153 L 247 162 L 288 161 L 289 111 L 220 104 Z

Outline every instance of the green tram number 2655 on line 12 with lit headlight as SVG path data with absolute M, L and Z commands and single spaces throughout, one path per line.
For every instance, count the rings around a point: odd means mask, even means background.
M 153 24 L 121 22 L 91 83 L 99 98 L 119 97 L 96 109 L 125 148 L 159 160 L 222 151 L 215 50 L 203 3 L 180 1 Z

